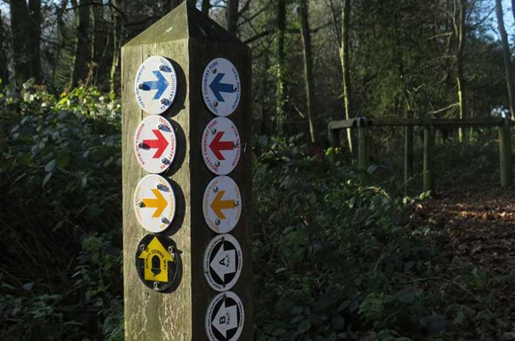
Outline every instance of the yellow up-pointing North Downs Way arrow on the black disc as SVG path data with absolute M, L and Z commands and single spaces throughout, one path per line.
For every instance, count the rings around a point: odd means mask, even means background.
M 168 282 L 168 262 L 173 262 L 174 259 L 157 237 L 152 239 L 138 258 L 145 260 L 146 281 Z

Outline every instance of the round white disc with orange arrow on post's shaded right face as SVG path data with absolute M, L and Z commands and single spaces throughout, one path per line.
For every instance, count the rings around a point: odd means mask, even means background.
M 209 229 L 227 233 L 241 215 L 241 195 L 238 185 L 226 175 L 217 176 L 207 185 L 202 197 L 202 212 Z

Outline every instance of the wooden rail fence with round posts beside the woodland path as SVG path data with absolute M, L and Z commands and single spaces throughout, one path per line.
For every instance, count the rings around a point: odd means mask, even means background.
M 512 184 L 512 153 L 510 122 L 503 118 L 439 119 L 439 118 L 367 118 L 329 122 L 328 136 L 331 146 L 340 145 L 342 129 L 357 129 L 357 166 L 366 169 L 370 163 L 368 130 L 373 127 L 405 127 L 404 180 L 413 175 L 413 127 L 424 127 L 423 190 L 434 191 L 436 174 L 432 167 L 434 127 L 497 127 L 499 132 L 499 166 L 501 187 Z

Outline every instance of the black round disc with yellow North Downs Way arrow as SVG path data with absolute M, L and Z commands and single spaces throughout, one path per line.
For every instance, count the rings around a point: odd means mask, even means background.
M 136 250 L 136 270 L 147 287 L 156 291 L 168 289 L 178 270 L 172 240 L 155 234 L 144 236 Z

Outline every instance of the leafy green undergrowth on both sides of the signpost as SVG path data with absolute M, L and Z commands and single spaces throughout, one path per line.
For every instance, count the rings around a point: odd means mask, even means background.
M 0 112 L 0 339 L 122 339 L 120 106 L 26 83 L 0 88 Z M 267 137 L 254 151 L 257 340 L 515 337 L 513 209 L 469 229 L 456 198 L 390 197 L 381 168 L 340 151 Z

